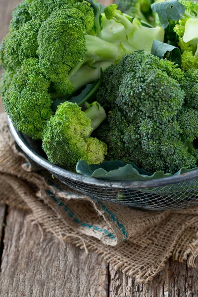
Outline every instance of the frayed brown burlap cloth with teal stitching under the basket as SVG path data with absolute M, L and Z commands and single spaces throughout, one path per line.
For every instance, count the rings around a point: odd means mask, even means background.
M 28 208 L 59 240 L 96 251 L 115 269 L 151 280 L 173 256 L 194 266 L 198 255 L 198 207 L 142 211 L 92 200 L 37 168 L 16 147 L 0 114 L 0 202 Z

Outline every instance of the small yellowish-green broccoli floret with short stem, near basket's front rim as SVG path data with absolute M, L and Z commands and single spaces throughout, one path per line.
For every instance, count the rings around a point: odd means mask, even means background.
M 43 149 L 49 161 L 71 171 L 75 171 L 76 163 L 81 159 L 88 164 L 100 164 L 107 147 L 90 135 L 105 117 L 105 111 L 98 103 L 85 112 L 76 103 L 60 104 L 43 132 Z

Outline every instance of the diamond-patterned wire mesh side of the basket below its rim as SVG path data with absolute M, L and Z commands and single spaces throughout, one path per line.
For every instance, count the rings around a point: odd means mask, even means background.
M 112 189 L 54 176 L 85 195 L 142 209 L 166 210 L 198 205 L 198 179 L 147 189 Z

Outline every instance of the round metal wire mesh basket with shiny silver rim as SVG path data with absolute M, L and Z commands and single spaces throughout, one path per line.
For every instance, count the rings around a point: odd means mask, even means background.
M 63 184 L 92 198 L 150 210 L 198 205 L 198 170 L 148 181 L 118 182 L 88 178 L 51 164 L 40 142 L 17 132 L 9 118 L 8 124 L 18 146 L 34 162 L 46 168 Z

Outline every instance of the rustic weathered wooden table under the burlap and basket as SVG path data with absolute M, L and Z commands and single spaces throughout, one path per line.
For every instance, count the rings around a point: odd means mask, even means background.
M 0 40 L 19 0 L 0 0 Z M 0 107 L 2 111 L 2 107 Z M 198 269 L 169 260 L 137 284 L 96 253 L 42 233 L 30 213 L 0 205 L 0 297 L 197 297 Z

